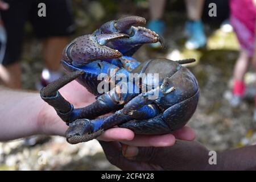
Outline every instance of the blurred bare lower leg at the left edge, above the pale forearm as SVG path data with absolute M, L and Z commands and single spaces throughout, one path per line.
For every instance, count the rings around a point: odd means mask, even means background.
M 0 65 L 0 80 L 3 82 L 3 85 L 19 89 L 21 87 L 20 75 L 21 70 L 18 62 L 6 67 Z

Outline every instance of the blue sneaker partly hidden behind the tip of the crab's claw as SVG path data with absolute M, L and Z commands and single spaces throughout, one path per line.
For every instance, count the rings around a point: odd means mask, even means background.
M 155 31 L 156 34 L 163 36 L 165 24 L 163 20 L 150 20 L 147 23 L 147 28 L 152 31 Z M 153 48 L 160 48 L 161 44 L 157 42 L 157 43 L 150 44 L 150 46 Z

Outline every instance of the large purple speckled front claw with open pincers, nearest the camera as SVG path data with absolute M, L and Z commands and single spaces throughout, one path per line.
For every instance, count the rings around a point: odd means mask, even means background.
M 81 66 L 94 60 L 119 58 L 122 56 L 121 52 L 105 45 L 124 38 L 129 36 L 119 33 L 80 36 L 64 48 L 63 59 L 69 64 Z

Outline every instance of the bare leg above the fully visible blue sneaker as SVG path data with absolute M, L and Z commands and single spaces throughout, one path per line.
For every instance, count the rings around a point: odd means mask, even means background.
M 186 0 L 187 15 L 189 20 L 201 19 L 204 7 L 204 0 Z

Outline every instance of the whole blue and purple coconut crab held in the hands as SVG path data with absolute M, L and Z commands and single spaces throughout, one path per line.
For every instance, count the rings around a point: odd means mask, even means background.
M 143 44 L 163 44 L 163 39 L 154 31 L 134 26 L 138 23 L 144 24 L 146 20 L 139 16 L 112 20 L 64 48 L 61 64 L 68 74 L 48 84 L 40 96 L 69 126 L 66 132 L 69 143 L 97 138 L 116 125 L 137 134 L 170 133 L 183 127 L 195 112 L 199 86 L 195 76 L 181 66 L 195 60 L 151 59 L 143 63 L 135 60 L 131 56 Z M 102 82 L 98 76 L 102 73 L 107 76 L 104 79 L 107 85 L 114 84 L 114 88 L 105 93 L 98 92 L 98 84 Z M 157 73 L 158 82 L 143 91 L 142 86 L 148 85 L 147 79 L 125 78 L 123 81 L 133 85 L 133 89 L 120 92 L 120 80 L 112 78 L 118 74 L 129 77 L 130 73 Z M 95 102 L 74 108 L 61 96 L 58 90 L 75 79 L 96 96 Z M 154 94 L 157 97 L 151 98 Z M 115 113 L 107 117 L 97 118 L 113 111 Z

